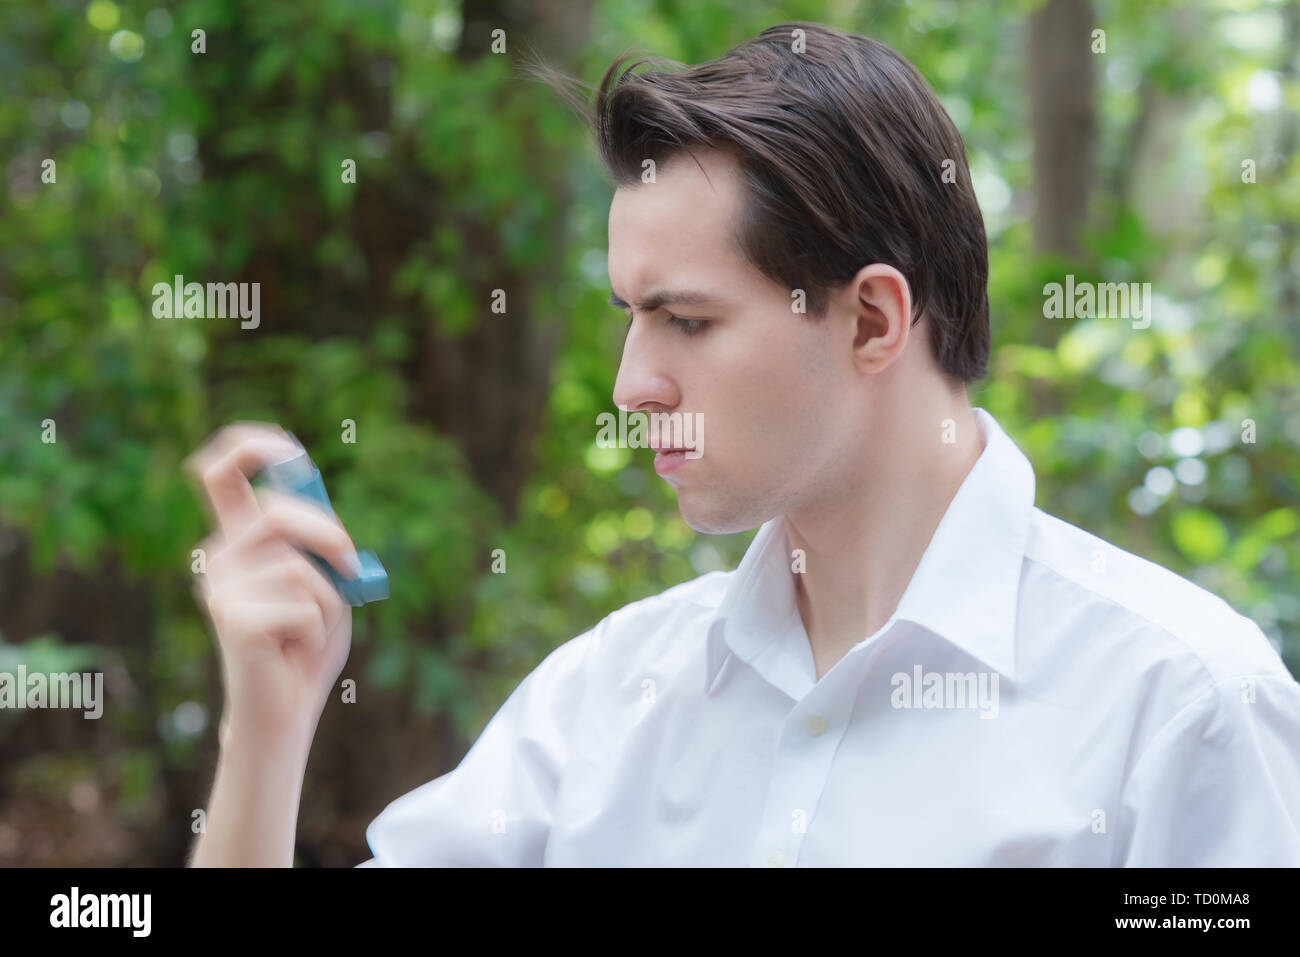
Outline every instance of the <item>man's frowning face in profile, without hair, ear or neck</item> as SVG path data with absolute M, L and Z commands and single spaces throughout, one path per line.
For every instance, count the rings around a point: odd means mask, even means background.
M 610 285 L 633 319 L 614 402 L 702 416 L 703 454 L 664 480 L 688 525 L 728 534 L 796 511 L 832 481 L 853 433 L 850 339 L 833 348 L 848 326 L 796 313 L 792 290 L 744 259 L 733 239 L 742 174 L 724 153 L 694 157 L 671 157 L 656 182 L 621 187 L 610 205 Z

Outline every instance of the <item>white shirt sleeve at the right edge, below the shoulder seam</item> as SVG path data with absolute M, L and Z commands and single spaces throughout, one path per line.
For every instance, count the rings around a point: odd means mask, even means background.
M 1300 684 L 1214 684 L 1156 733 L 1121 802 L 1127 867 L 1300 866 Z

